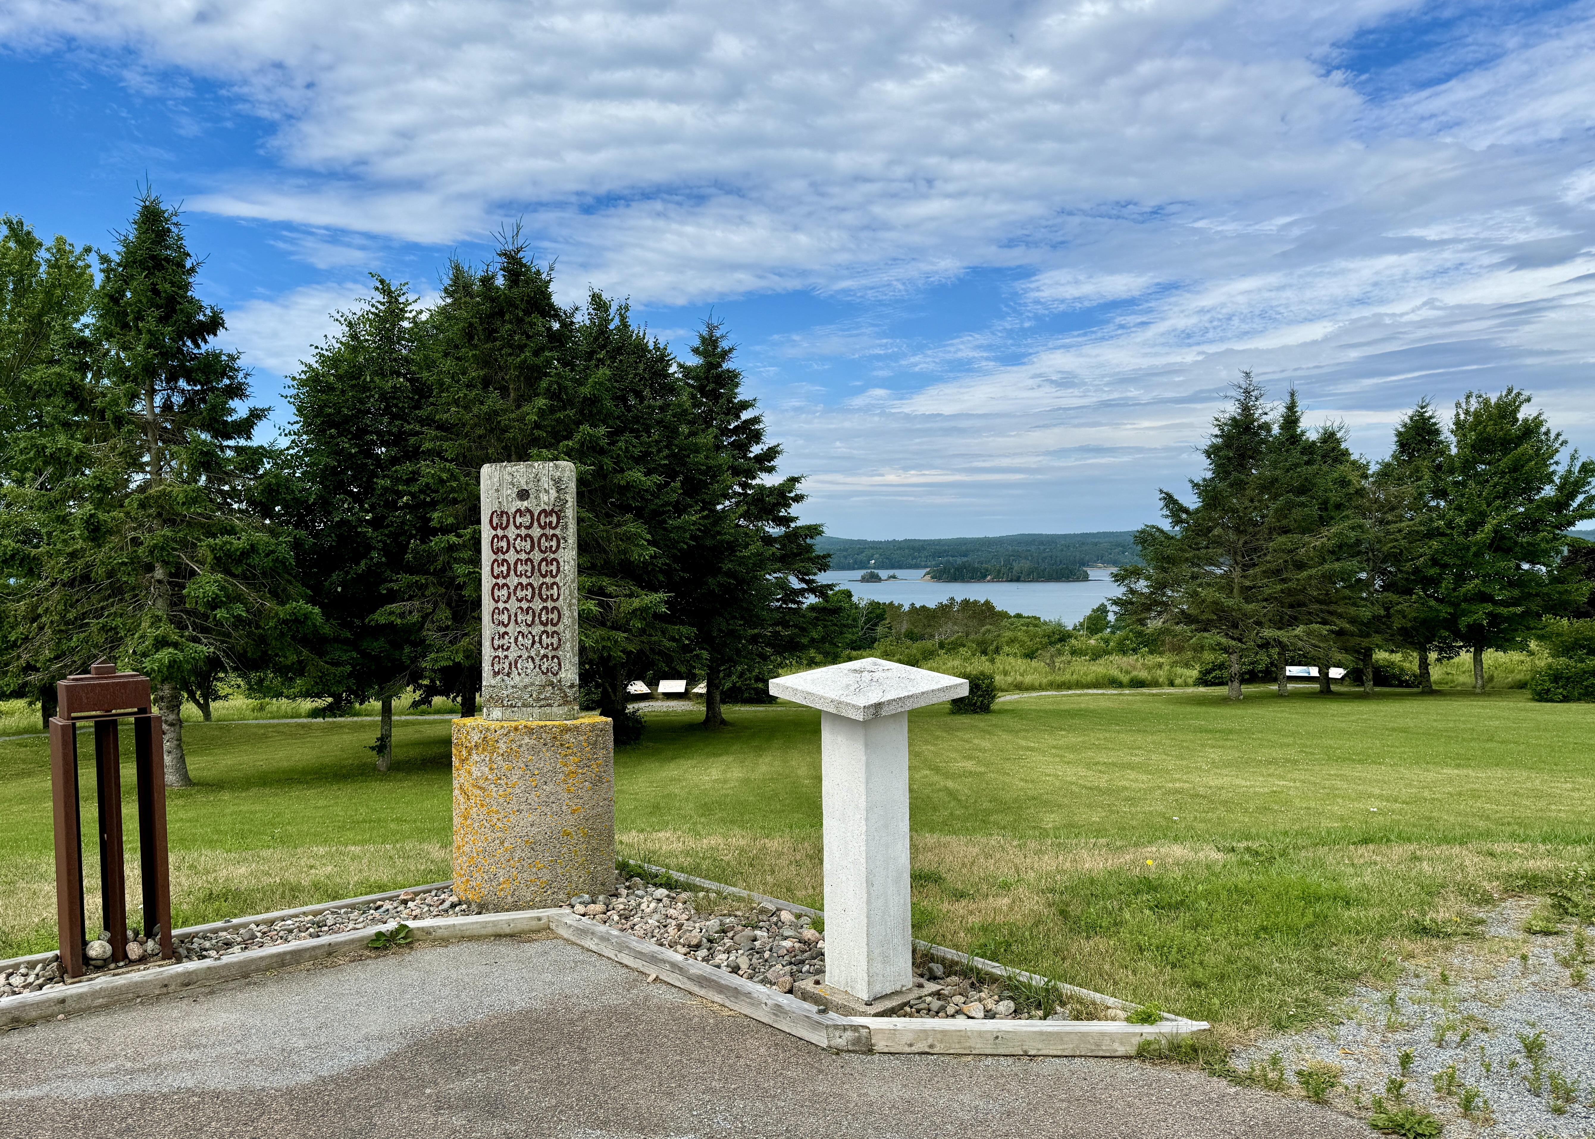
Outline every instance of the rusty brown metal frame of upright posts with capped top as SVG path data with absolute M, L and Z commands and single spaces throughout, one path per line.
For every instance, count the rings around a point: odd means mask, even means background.
M 145 938 L 160 925 L 161 957 L 172 957 L 172 890 L 166 869 L 166 770 L 161 718 L 150 704 L 150 678 L 96 664 L 86 676 L 56 684 L 49 719 L 49 783 L 56 806 L 56 920 L 61 967 L 83 976 L 83 814 L 78 802 L 78 724 L 94 724 L 94 785 L 99 799 L 100 901 L 112 962 L 128 960 L 128 879 L 121 836 L 121 743 L 118 724 L 132 719 L 139 778 L 139 869 Z

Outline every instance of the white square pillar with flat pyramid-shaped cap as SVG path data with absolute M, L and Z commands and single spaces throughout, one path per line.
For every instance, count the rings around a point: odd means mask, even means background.
M 793 994 L 884 1016 L 914 989 L 908 865 L 908 713 L 968 696 L 970 683 L 892 660 L 852 660 L 770 681 L 820 710 L 825 978 Z

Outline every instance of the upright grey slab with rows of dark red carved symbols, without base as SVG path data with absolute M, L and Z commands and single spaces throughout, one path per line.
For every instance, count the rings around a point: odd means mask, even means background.
M 482 467 L 482 716 L 576 719 L 576 467 Z

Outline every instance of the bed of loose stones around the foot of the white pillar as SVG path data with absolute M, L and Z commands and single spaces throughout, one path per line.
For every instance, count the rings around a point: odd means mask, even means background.
M 571 898 L 577 917 L 630 933 L 683 957 L 735 973 L 777 992 L 791 992 L 805 976 L 825 973 L 825 935 L 807 914 L 746 903 L 716 893 L 668 890 L 640 877 L 612 895 Z M 1059 997 L 1051 1010 L 1019 1008 L 1019 997 L 1000 979 L 959 975 L 939 962 L 922 960 L 916 976 L 943 989 L 911 1002 L 896 1016 L 936 1019 L 1124 1019 L 1118 1008 L 1085 1005 Z

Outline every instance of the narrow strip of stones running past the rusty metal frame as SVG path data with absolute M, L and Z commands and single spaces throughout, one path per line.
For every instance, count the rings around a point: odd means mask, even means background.
M 230 925 L 223 930 L 179 936 L 172 946 L 177 960 L 215 960 L 231 957 L 254 949 L 270 949 L 292 941 L 309 941 L 332 933 L 348 930 L 364 930 L 388 925 L 389 922 L 413 922 L 426 917 L 459 917 L 480 912 L 471 903 L 455 897 L 450 890 L 405 892 L 386 901 L 367 901 L 359 906 L 341 909 L 325 909 L 319 914 L 301 914 L 300 917 L 284 917 L 278 922 Z M 110 960 L 110 933 L 100 930 L 94 941 L 89 941 L 85 952 L 88 962 L 86 976 L 99 976 L 124 972 L 140 962 L 155 959 L 161 952 L 161 944 L 155 938 L 144 938 L 139 930 L 126 932 L 128 964 L 118 965 Z M 0 970 L 0 1000 L 18 997 L 24 992 L 43 992 L 61 987 L 61 957 L 51 954 L 26 968 L 10 973 Z

